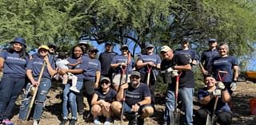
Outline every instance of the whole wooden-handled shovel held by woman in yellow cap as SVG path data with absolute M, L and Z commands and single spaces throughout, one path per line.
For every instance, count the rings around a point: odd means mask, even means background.
M 38 86 L 40 85 L 40 81 L 42 79 L 42 73 L 45 69 L 45 66 L 46 66 L 46 62 L 44 61 L 43 64 L 42 64 L 41 72 L 40 72 L 39 77 L 38 77 Z M 33 125 L 33 121 L 30 121 L 29 118 L 30 118 L 30 112 L 31 112 L 32 107 L 34 105 L 34 100 L 35 100 L 35 97 L 37 96 L 37 93 L 38 93 L 38 87 L 36 87 L 34 89 L 34 94 L 32 96 L 32 99 L 30 101 L 30 106 L 29 106 L 29 109 L 28 109 L 27 114 L 26 114 L 26 120 L 18 119 L 17 120 L 17 125 Z

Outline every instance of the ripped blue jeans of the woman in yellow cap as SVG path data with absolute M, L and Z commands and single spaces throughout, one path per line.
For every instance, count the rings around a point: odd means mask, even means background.
M 40 82 L 40 85 L 38 87 L 38 93 L 34 101 L 34 113 L 33 113 L 33 119 L 39 120 L 43 107 L 44 102 L 46 100 L 46 96 L 50 90 L 51 87 L 51 80 L 49 78 L 42 77 L 42 80 Z M 31 97 L 25 97 L 24 100 L 22 100 L 22 106 L 19 111 L 19 119 L 26 119 L 27 111 L 29 109 Z

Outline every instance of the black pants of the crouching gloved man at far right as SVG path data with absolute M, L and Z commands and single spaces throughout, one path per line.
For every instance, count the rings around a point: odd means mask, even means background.
M 207 115 L 210 114 L 210 111 L 201 108 L 196 112 L 196 119 L 200 122 L 198 122 L 197 124 L 206 124 L 206 119 L 207 119 Z M 217 122 L 221 125 L 230 125 L 231 124 L 231 119 L 232 119 L 232 114 L 230 112 L 219 112 L 216 113 L 217 116 Z

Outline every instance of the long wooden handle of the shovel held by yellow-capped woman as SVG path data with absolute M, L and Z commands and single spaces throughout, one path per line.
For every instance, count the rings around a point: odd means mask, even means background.
M 45 70 L 45 66 L 46 66 L 46 62 L 43 61 L 41 72 L 40 72 L 39 77 L 38 77 L 38 86 L 40 85 L 40 81 L 42 79 L 42 73 Z M 32 96 L 32 99 L 31 99 L 31 102 L 30 102 L 30 107 L 29 107 L 29 109 L 27 111 L 27 114 L 26 114 L 26 120 L 28 120 L 29 117 L 30 117 L 30 111 L 31 111 L 31 109 L 34 105 L 34 100 L 35 100 L 35 97 L 37 96 L 37 93 L 38 93 L 38 87 L 36 87 L 35 90 L 34 90 L 34 95 Z

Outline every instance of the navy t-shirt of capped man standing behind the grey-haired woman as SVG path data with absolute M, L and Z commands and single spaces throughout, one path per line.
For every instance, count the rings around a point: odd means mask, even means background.
M 205 68 L 206 71 L 211 70 L 210 61 L 212 61 L 214 57 L 218 57 L 217 49 L 214 49 L 213 51 L 209 49 L 202 52 L 201 62 L 204 62 L 203 68 Z

